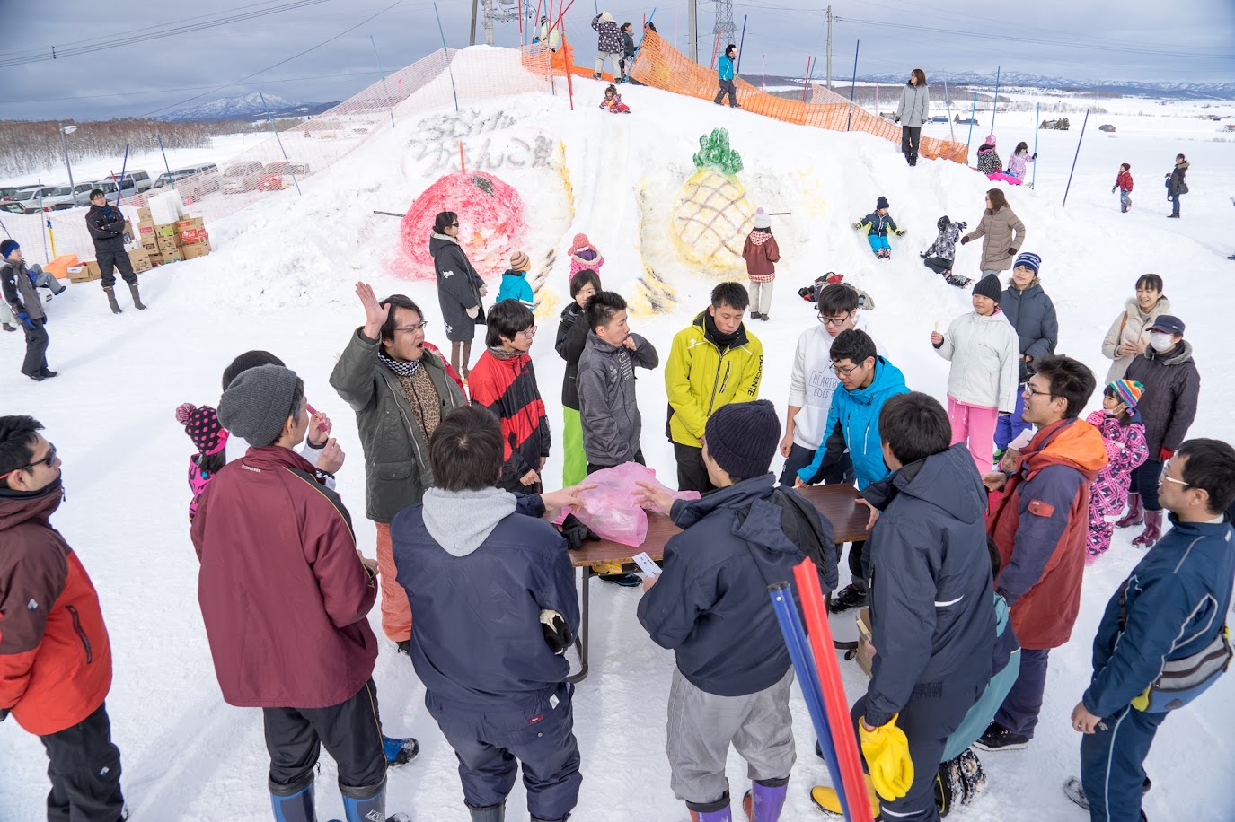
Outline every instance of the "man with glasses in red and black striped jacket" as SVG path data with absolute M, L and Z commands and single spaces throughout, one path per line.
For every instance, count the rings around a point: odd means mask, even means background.
M 536 338 L 536 317 L 522 302 L 505 300 L 489 309 L 488 326 L 485 352 L 467 385 L 472 405 L 484 406 L 501 422 L 505 462 L 496 485 L 504 491 L 540 494 L 552 438 L 527 353 Z

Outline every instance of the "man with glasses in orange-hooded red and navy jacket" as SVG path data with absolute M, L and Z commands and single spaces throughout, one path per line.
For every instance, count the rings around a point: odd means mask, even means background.
M 1020 674 L 994 722 L 974 744 L 983 750 L 1029 747 L 1042 710 L 1051 648 L 1068 641 L 1081 608 L 1089 484 L 1107 465 L 1097 428 L 1078 418 L 1095 386 L 1093 373 L 1070 357 L 1047 357 L 1024 390 L 1025 422 L 1037 432 L 1015 470 L 983 474 L 1003 491 L 987 517 L 999 548 L 995 592 L 1011 608 L 1020 639 Z

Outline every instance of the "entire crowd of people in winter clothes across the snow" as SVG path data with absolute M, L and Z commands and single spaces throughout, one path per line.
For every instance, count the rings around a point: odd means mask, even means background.
M 621 77 L 629 32 L 608 14 L 593 27 L 603 38 L 598 73 L 614 57 Z M 720 74 L 730 105 L 734 57 L 730 47 Z M 927 106 L 915 70 L 898 109 L 910 165 Z M 1021 143 L 1010 163 L 1020 175 L 1036 157 L 1026 151 Z M 979 165 L 992 162 L 993 136 L 979 149 Z M 1179 156 L 1167 180 L 1174 216 L 1187 168 Z M 1126 164 L 1116 189 L 1126 211 Z M 144 309 L 126 270 L 122 218 L 105 201 L 96 209 L 88 217 L 96 242 L 120 242 L 104 273 L 109 305 L 120 311 L 115 265 Z M 882 196 L 853 227 L 881 258 L 890 255 L 888 235 L 904 233 Z M 358 549 L 335 490 L 346 455 L 333 423 L 279 357 L 245 352 L 224 373 L 216 406 L 179 406 L 193 443 L 199 605 L 225 701 L 262 708 L 274 818 L 316 818 L 322 747 L 338 765 L 348 822 L 406 818 L 388 817 L 387 773 L 420 747 L 382 732 L 373 678 L 382 648 L 368 620 L 379 590 L 382 632 L 425 686 L 473 822 L 505 818 L 520 766 L 532 822 L 571 816 L 583 776 L 567 681 L 580 622 L 568 552 L 595 534 L 577 516 L 555 526 L 546 513 L 578 513 L 589 476 L 645 463 L 637 369 L 662 365 L 677 491 L 694 495 L 640 484 L 632 505 L 682 532 L 664 546 L 659 574 L 616 568 L 601 579 L 641 587 L 641 626 L 674 652 L 669 784 L 694 822 L 732 818 L 730 745 L 748 764 L 746 818 L 781 816 L 797 762 L 794 671 L 767 587 L 804 558 L 820 565 L 830 610 L 869 608 L 872 678 L 851 716 L 872 802 L 883 818 L 929 822 L 981 792 L 972 748 L 1031 744 L 1050 652 L 1072 641 L 1084 569 L 1116 528 L 1135 526 L 1145 554 L 1094 638 L 1093 678 L 1071 717 L 1083 734 L 1081 775 L 1065 790 L 1095 822 L 1144 818 L 1144 760 L 1158 726 L 1231 657 L 1223 621 L 1235 579 L 1235 449 L 1187 437 L 1200 376 L 1161 276 L 1136 280 L 1103 342 L 1112 365 L 1099 384 L 1056 353 L 1044 260 L 1021 251 L 1026 230 L 1003 190 L 987 193 L 969 233 L 946 216 L 937 227 L 921 257 L 952 285 L 972 283 L 953 274 L 956 243 L 983 241 L 972 311 L 929 337 L 948 362 L 946 395 L 914 390 L 914 375 L 892 362 L 872 333 L 869 294 L 824 281 L 818 322 L 789 365 L 783 430 L 761 397 L 764 349 L 747 323 L 769 318 L 781 253 L 769 215 L 756 214 L 743 248 L 750 290 L 718 284 L 663 363 L 631 330 L 625 299 L 604 289 L 604 257 L 577 235 L 555 334 L 566 369 L 553 437 L 531 355 L 529 254 L 511 255 L 487 309 L 458 215 L 440 212 L 426 239 L 450 354 L 427 342 L 420 305 L 378 300 L 358 283 L 363 322 L 330 376 L 356 413 L 375 559 Z M 54 376 L 43 283 L 12 241 L 0 255 L 5 302 L 27 330 L 23 373 Z M 478 327 L 484 349 L 473 364 Z M 1083 417 L 1095 394 L 1102 409 Z M 107 632 L 85 569 L 49 522 L 62 501 L 61 458 L 41 432 L 30 416 L 0 417 L 0 721 L 11 713 L 43 741 L 49 818 L 115 822 L 127 810 L 104 704 Z M 563 475 L 551 491 L 545 467 L 555 452 Z M 799 494 L 820 483 L 856 484 L 869 509 L 868 538 L 847 552 Z M 816 786 L 811 797 L 840 811 L 834 789 Z

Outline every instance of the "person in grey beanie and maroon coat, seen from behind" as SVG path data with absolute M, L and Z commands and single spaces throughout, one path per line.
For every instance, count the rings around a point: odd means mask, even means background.
M 264 443 L 215 474 L 190 529 L 224 700 L 262 708 L 275 818 L 315 818 L 325 744 L 347 818 L 385 820 L 367 616 L 378 569 L 357 552 L 342 500 L 294 450 L 309 430 L 304 381 L 279 365 L 251 368 L 224 391 L 217 416 L 232 434 Z

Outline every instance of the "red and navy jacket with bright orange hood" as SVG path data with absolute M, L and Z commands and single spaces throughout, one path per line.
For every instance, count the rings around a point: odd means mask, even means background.
M 999 548 L 995 592 L 1011 607 L 1021 648 L 1057 648 L 1081 610 L 1089 484 L 1105 468 L 1107 444 L 1084 420 L 1041 428 L 987 515 Z

